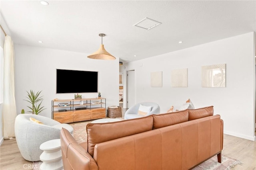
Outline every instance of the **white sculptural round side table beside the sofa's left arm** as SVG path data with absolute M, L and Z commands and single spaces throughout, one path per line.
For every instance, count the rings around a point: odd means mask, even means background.
M 40 160 L 43 162 L 40 170 L 63 169 L 60 139 L 46 141 L 40 145 L 40 149 L 44 150 L 40 155 Z

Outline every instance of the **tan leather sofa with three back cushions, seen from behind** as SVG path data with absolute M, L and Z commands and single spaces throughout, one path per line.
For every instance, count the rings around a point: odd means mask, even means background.
M 215 155 L 221 162 L 223 121 L 213 106 L 89 123 L 87 133 L 87 142 L 78 144 L 62 129 L 64 169 L 188 170 Z

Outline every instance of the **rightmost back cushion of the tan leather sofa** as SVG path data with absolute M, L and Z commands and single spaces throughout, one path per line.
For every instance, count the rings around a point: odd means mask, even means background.
M 202 107 L 199 109 L 188 109 L 188 120 L 199 119 L 202 117 L 212 116 L 213 106 Z

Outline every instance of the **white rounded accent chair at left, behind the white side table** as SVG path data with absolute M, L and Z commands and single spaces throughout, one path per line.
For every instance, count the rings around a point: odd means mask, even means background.
M 30 121 L 30 117 L 43 124 Z M 67 129 L 71 134 L 73 127 L 66 123 L 59 123 L 49 117 L 35 114 L 19 114 L 14 123 L 15 137 L 22 157 L 28 161 L 40 160 L 43 150 L 40 145 L 52 139 L 60 139 L 60 130 Z

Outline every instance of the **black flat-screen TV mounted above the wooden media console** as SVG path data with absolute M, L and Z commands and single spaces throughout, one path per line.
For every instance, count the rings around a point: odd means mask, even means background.
M 98 92 L 98 72 L 57 69 L 56 77 L 56 93 Z

